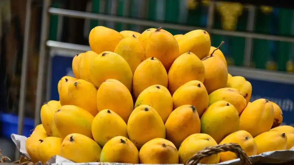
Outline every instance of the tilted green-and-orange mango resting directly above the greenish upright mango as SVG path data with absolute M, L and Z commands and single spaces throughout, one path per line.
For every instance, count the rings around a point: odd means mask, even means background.
M 215 90 L 208 95 L 208 99 L 208 106 L 220 100 L 225 100 L 231 103 L 237 109 L 239 115 L 242 113 L 247 105 L 243 93 L 235 88 L 220 88 L 218 90 Z

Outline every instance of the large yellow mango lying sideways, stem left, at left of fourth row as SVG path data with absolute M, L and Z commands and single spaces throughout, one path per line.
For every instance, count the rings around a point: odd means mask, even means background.
M 91 132 L 93 119 L 88 111 L 75 105 L 61 106 L 54 114 L 54 122 L 62 139 L 72 133 L 93 138 Z

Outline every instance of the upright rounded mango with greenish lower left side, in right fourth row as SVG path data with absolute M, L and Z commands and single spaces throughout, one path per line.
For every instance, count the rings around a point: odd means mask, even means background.
M 220 143 L 228 134 L 239 130 L 237 109 L 226 101 L 217 101 L 207 108 L 201 119 L 201 133 Z

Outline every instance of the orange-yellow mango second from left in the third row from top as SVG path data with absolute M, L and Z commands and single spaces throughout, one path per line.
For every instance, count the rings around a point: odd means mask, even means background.
M 97 89 L 93 84 L 78 79 L 69 85 L 68 93 L 70 105 L 83 108 L 91 113 L 92 116 L 97 115 Z

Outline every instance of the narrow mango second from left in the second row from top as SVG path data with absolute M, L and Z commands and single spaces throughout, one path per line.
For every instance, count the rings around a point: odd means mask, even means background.
M 86 53 L 81 54 L 79 56 L 81 56 L 80 63 L 79 63 L 80 79 L 83 79 L 92 83 L 90 79 L 90 67 L 91 67 L 90 64 L 93 61 L 93 59 L 98 56 L 98 54 L 93 51 L 87 51 Z

